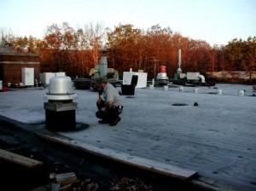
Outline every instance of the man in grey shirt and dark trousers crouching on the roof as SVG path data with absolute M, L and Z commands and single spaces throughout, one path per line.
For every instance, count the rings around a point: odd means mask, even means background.
M 99 82 L 99 99 L 96 101 L 98 111 L 96 117 L 99 124 L 109 124 L 114 126 L 119 123 L 121 118 L 119 114 L 122 113 L 123 105 L 119 92 L 112 84 L 105 80 Z

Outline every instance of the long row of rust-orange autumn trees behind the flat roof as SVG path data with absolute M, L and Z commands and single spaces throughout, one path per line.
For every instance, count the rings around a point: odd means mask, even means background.
M 256 37 L 232 39 L 226 45 L 210 46 L 204 40 L 183 37 L 170 27 L 151 26 L 147 30 L 131 24 L 113 30 L 92 23 L 74 29 L 67 22 L 47 26 L 44 38 L 15 37 L 0 31 L 1 47 L 40 55 L 41 72 L 66 72 L 70 77 L 88 77 L 100 59 L 108 55 L 108 67 L 120 72 L 143 70 L 155 78 L 160 66 L 168 76 L 177 72 L 177 50 L 182 51 L 183 72 L 256 71 Z

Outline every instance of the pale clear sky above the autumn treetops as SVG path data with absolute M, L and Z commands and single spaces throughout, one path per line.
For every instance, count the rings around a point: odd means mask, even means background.
M 256 0 L 1 0 L 0 10 L 0 29 L 19 37 L 44 38 L 47 26 L 63 22 L 74 29 L 159 25 L 211 45 L 256 36 Z

